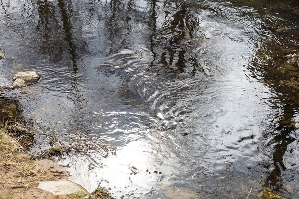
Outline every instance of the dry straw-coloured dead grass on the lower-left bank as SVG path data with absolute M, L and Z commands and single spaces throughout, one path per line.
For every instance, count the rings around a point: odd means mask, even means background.
M 65 179 L 53 176 L 49 166 L 31 159 L 17 140 L 7 131 L 15 126 L 0 130 L 0 199 L 57 199 L 53 194 L 37 189 L 39 181 Z M 61 197 L 60 197 L 61 198 Z M 71 199 L 62 196 L 64 199 Z

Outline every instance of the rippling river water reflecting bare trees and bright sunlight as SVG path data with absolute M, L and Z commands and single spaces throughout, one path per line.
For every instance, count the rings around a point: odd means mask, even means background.
M 91 154 L 101 163 L 94 169 L 84 156 L 62 161 L 89 191 L 295 199 L 298 6 L 0 0 L 0 86 L 18 71 L 41 76 L 0 97 L 19 99 L 26 119 L 61 139 L 80 131 L 117 147 L 116 156 Z

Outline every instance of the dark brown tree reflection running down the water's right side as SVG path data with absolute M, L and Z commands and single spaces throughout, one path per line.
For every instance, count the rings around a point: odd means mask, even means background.
M 273 10 L 270 6 L 269 12 L 273 11 L 276 11 L 276 14 L 280 12 L 281 17 L 287 14 L 283 10 Z M 260 11 L 260 13 L 266 15 L 265 11 Z M 298 17 L 295 18 L 298 19 Z M 271 129 L 263 134 L 264 139 L 268 140 L 266 147 L 273 150 L 269 154 L 273 161 L 273 167 L 270 169 L 264 186 L 276 193 L 285 192 L 285 190 L 289 189 L 286 178 L 289 178 L 287 176 L 291 168 L 285 166 L 286 162 L 284 159 L 289 156 L 290 150 L 294 150 L 294 148 L 290 149 L 289 145 L 296 141 L 298 134 L 296 125 L 296 116 L 298 114 L 298 86 L 296 83 L 298 77 L 298 55 L 296 54 L 297 50 L 295 50 L 298 48 L 298 42 L 296 41 L 298 32 L 293 32 L 293 28 L 298 28 L 298 26 L 294 27 L 294 20 L 297 20 L 295 18 L 291 17 L 286 21 L 280 17 L 270 15 L 263 18 L 265 23 L 271 29 L 274 29 L 273 35 L 267 35 L 263 38 L 265 41 L 257 51 L 257 58 L 253 65 L 249 67 L 253 77 L 265 82 L 278 94 L 276 104 L 271 104 L 271 106 L 276 106 L 280 110 L 278 114 L 274 115 L 278 120 L 276 120 L 276 124 L 271 125 L 273 130 Z M 292 34 L 292 37 L 289 37 L 290 34 Z M 293 160 L 293 165 L 295 164 L 297 162 Z M 294 181 L 294 179 L 291 180 L 290 178 L 289 180 Z

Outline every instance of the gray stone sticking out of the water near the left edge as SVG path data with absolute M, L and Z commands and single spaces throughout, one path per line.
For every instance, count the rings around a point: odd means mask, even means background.
M 39 75 L 35 71 L 18 72 L 14 74 L 12 78 L 14 82 L 9 88 L 26 87 L 35 84 L 38 82 L 39 78 Z

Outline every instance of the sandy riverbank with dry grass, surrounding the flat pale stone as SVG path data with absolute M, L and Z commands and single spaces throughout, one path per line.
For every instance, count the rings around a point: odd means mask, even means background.
M 81 199 L 77 194 L 54 195 L 38 188 L 40 182 L 66 181 L 68 172 L 52 160 L 33 160 L 11 131 L 20 130 L 16 122 L 0 130 L 0 199 Z M 26 129 L 23 129 L 26 131 Z M 105 188 L 95 190 L 87 198 L 114 199 Z

